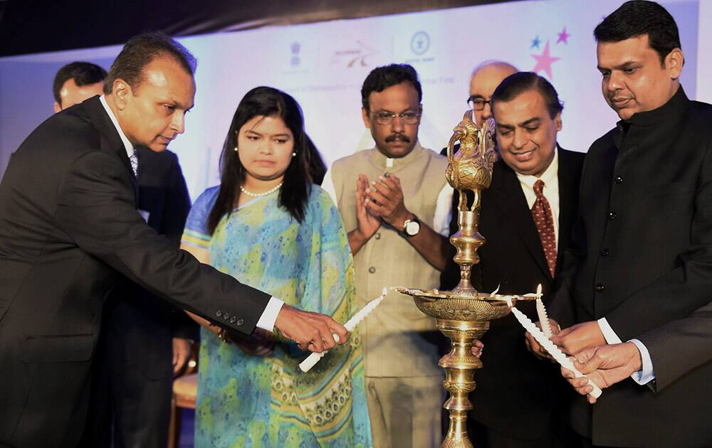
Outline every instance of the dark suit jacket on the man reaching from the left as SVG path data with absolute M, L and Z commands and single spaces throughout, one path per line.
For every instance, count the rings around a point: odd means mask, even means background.
M 0 445 L 73 447 L 85 421 L 103 299 L 122 274 L 251 333 L 269 295 L 157 235 L 98 97 L 53 115 L 0 184 Z

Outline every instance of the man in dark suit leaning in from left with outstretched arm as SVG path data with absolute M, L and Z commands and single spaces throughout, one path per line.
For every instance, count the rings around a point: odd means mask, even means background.
M 123 275 L 249 335 L 259 326 L 312 351 L 347 340 L 322 314 L 201 265 L 136 210 L 135 146 L 184 132 L 195 60 L 161 34 L 132 38 L 102 97 L 43 122 L 0 184 L 0 447 L 75 447 L 85 424 L 103 300 Z

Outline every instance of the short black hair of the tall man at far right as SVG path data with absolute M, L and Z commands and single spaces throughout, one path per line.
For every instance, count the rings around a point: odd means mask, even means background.
M 682 48 L 675 19 L 654 1 L 626 1 L 593 31 L 597 42 L 620 42 L 644 35 L 648 36 L 648 44 L 658 53 L 662 65 L 672 50 Z

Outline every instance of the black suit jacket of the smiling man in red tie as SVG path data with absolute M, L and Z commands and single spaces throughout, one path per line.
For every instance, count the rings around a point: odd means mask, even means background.
M 557 267 L 570 240 L 577 213 L 577 195 L 584 154 L 557 149 L 559 154 L 559 236 Z M 457 201 L 457 194 L 454 201 Z M 470 202 L 471 203 L 471 202 Z M 456 202 L 451 233 L 457 230 Z M 486 239 L 480 248 L 480 263 L 473 267 L 473 286 L 491 292 L 499 285 L 504 294 L 534 292 L 542 284 L 553 292 L 551 277 L 539 234 L 515 172 L 503 161 L 494 164 L 490 188 L 482 193 L 479 232 Z M 454 252 L 453 252 L 454 255 Z M 459 267 L 449 260 L 441 277 L 444 289 L 459 280 Z M 546 301 L 545 296 L 545 301 Z M 537 321 L 533 302 L 518 309 Z M 477 388 L 471 394 L 471 417 L 508 437 L 534 439 L 551 431 L 560 410 L 565 382 L 558 368 L 528 353 L 524 329 L 510 314 L 490 324 L 481 339 L 485 344 L 483 368 L 476 374 Z

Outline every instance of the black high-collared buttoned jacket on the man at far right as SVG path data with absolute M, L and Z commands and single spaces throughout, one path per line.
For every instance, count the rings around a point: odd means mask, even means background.
M 598 139 L 562 280 L 577 321 L 605 317 L 651 355 L 656 380 L 623 380 L 575 429 L 594 444 L 712 446 L 712 106 L 682 88 Z M 556 317 L 556 316 L 553 316 Z M 592 414 L 591 414 L 592 412 Z

